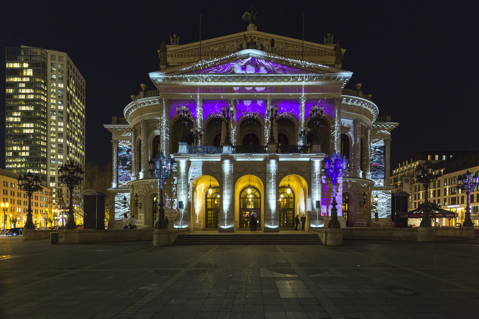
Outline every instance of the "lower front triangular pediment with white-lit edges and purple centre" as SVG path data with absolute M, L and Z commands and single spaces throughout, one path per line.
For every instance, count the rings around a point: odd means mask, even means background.
M 262 75 L 333 75 L 350 77 L 351 72 L 308 61 L 296 60 L 283 55 L 261 50 L 247 49 L 227 55 L 173 66 L 158 72 L 151 72 L 152 79 L 169 76 L 262 76 Z

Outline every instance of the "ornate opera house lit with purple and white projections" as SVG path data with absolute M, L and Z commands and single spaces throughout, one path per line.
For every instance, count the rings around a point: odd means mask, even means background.
M 262 50 L 243 49 L 245 37 Z M 272 38 L 278 44 L 273 50 Z M 327 225 L 332 185 L 322 162 L 325 153 L 334 151 L 349 158 L 337 187 L 342 227 L 370 224 L 370 200 L 376 195 L 379 218 L 391 221 L 389 144 L 398 123 L 378 116 L 360 84 L 345 88 L 352 72 L 335 65 L 334 45 L 305 42 L 301 60 L 301 44 L 249 30 L 202 42 L 201 59 L 199 43 L 167 46 L 168 66 L 149 74 L 156 88 L 142 84 L 125 107 L 125 117 L 115 116 L 105 125 L 113 136 L 109 191 L 115 213 L 109 228 L 119 227 L 130 210 L 123 197 L 135 194 L 143 203 L 130 206 L 138 225 L 154 225 L 158 186 L 149 175 L 148 159 L 158 150 L 176 160 L 174 176 L 163 189 L 165 214 L 174 227 L 249 230 L 251 214 L 262 231 L 291 228 L 297 214 L 307 215 L 308 227 Z M 177 107 L 183 104 L 191 118 L 186 142 L 179 143 L 183 127 Z M 229 127 L 222 120 L 223 106 L 234 114 Z M 272 125 L 267 111 L 275 106 Z M 316 108 L 322 113 L 312 120 L 310 110 Z M 308 135 L 301 135 L 308 128 Z M 203 133 L 192 146 L 195 130 Z M 225 143 L 228 136 L 231 143 Z M 360 206 L 364 193 L 368 203 Z

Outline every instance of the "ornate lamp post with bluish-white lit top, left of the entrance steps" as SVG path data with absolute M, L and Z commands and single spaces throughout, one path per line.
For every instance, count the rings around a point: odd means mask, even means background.
M 160 188 L 160 203 L 158 206 L 158 219 L 155 223 L 155 229 L 168 229 L 168 225 L 165 221 L 165 209 L 163 209 L 163 185 L 165 180 L 171 177 L 173 171 L 173 165 L 175 160 L 171 158 L 171 155 L 166 158 L 163 151 L 156 155 L 156 158 L 151 157 L 148 161 L 148 170 L 151 175 L 158 179 L 158 188 Z

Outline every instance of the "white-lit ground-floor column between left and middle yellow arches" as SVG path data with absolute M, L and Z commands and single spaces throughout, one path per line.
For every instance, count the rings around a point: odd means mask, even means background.
M 219 212 L 219 232 L 235 231 L 235 186 L 233 184 L 233 161 L 229 156 L 223 157 L 222 174 L 223 189 L 221 209 Z

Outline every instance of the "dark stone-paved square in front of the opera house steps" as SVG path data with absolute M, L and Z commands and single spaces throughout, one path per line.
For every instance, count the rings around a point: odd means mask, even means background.
M 479 245 L 0 241 L 1 318 L 479 318 Z

